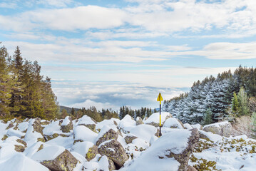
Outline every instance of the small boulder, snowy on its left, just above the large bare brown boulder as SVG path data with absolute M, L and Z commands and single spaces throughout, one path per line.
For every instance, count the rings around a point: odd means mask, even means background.
M 102 142 L 107 140 L 117 140 L 118 139 L 118 133 L 116 133 L 115 130 L 110 128 L 109 126 L 104 126 L 101 129 L 101 132 L 98 133 L 98 140 L 96 141 L 96 145 L 100 145 Z

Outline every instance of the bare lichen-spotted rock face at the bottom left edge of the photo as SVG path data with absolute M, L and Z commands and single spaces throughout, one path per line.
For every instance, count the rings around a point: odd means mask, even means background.
M 51 171 L 66 171 L 66 170 L 73 170 L 74 167 L 76 167 L 76 164 L 78 163 L 78 160 L 76 160 L 73 155 L 71 155 L 71 152 L 68 150 L 65 150 L 61 153 L 61 155 L 58 155 L 54 160 L 44 160 L 41 162 L 42 165 L 45 167 L 48 167 Z

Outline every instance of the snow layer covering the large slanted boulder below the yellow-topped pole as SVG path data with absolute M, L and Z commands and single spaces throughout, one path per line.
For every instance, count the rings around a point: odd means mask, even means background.
M 171 131 L 170 133 L 158 138 L 148 150 L 145 150 L 140 157 L 136 158 L 128 168 L 122 171 L 140 171 L 140 170 L 170 170 L 177 171 L 180 163 L 174 158 L 165 157 L 166 151 L 171 150 L 175 154 L 183 152 L 187 147 L 189 130 Z M 160 159 L 159 156 L 164 157 Z

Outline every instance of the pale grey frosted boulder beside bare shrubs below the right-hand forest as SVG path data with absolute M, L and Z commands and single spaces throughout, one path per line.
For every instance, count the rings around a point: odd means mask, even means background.
M 225 122 L 205 125 L 203 127 L 203 130 L 206 132 L 211 132 L 211 133 L 217 134 L 217 135 L 230 137 L 230 135 L 232 134 L 233 128 L 232 128 L 231 123 L 225 121 Z

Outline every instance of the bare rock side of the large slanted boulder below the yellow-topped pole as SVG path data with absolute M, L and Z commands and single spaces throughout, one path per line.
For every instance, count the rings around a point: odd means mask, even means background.
M 172 152 L 171 150 L 168 151 L 169 154 L 166 154 L 166 157 L 174 157 L 175 160 L 180 162 L 179 171 L 186 171 L 188 170 L 188 160 L 189 157 L 195 148 L 196 145 L 198 145 L 199 140 L 199 133 L 197 128 L 193 128 L 191 131 L 190 138 L 188 138 L 188 146 L 183 150 L 183 152 L 175 154 L 175 152 Z

